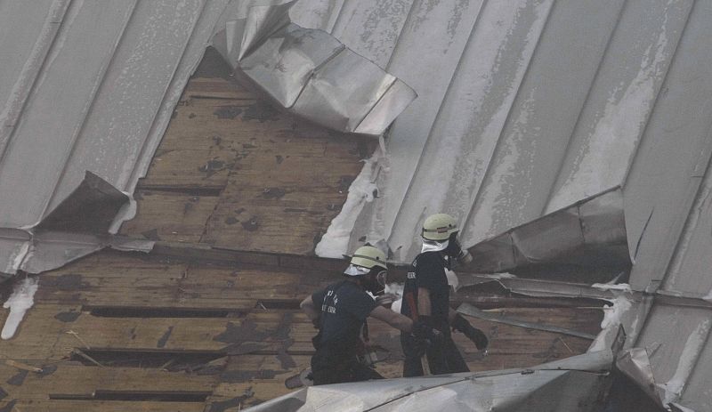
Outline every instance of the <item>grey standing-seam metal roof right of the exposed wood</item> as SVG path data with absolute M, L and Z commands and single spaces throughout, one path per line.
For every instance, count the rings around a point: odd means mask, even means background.
M 622 185 L 633 289 L 681 296 L 643 303 L 630 335 L 667 347 L 651 361 L 673 400 L 712 409 L 712 1 L 302 0 L 293 19 L 419 96 L 368 170 L 379 198 L 352 245 L 407 262 L 428 214 L 472 246 Z

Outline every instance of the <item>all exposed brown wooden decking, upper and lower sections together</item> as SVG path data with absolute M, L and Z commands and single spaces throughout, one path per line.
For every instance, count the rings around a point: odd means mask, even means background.
M 158 246 L 40 276 L 35 306 L 0 341 L 0 411 L 236 411 L 289 392 L 285 379 L 313 351 L 298 303 L 344 267 L 313 257 L 314 244 L 375 144 L 289 117 L 223 77 L 192 79 L 122 228 Z M 602 318 L 571 306 L 499 310 L 589 334 Z M 455 335 L 473 370 L 528 367 L 590 343 L 470 320 L 491 342 L 478 359 Z M 386 358 L 377 370 L 401 376 L 398 334 L 369 326 Z

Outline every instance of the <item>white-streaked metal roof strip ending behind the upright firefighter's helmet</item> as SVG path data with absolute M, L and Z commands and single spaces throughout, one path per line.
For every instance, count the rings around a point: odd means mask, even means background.
M 552 3 L 483 5 L 396 218 L 393 248 L 413 254 L 427 214 L 465 222 Z

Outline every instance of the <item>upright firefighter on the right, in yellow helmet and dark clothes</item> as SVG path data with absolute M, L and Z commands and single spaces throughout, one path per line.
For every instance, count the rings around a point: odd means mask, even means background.
M 463 332 L 477 349 L 488 345 L 487 336 L 449 307 L 449 284 L 446 270 L 454 261 L 469 263 L 472 256 L 457 240 L 457 222 L 449 214 L 433 214 L 425 219 L 421 237 L 423 248 L 411 264 L 403 288 L 401 313 L 417 319 L 442 334 L 438 343 L 427 348 L 427 367 L 433 375 L 468 372 L 465 359 L 452 341 L 449 327 Z M 423 376 L 422 345 L 407 334 L 401 334 L 401 346 L 406 357 L 403 376 Z

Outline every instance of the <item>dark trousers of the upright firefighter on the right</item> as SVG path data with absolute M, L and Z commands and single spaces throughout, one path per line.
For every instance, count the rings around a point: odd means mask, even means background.
M 459 372 L 469 372 L 465 359 L 457 350 L 455 342 L 449 334 L 449 328 L 445 327 L 441 331 L 444 338 L 442 343 L 433 345 L 425 353 L 428 359 L 428 367 L 433 375 L 457 374 Z M 401 334 L 401 346 L 406 359 L 403 361 L 403 377 L 423 376 L 423 365 L 420 361 L 420 353 L 413 336 Z

